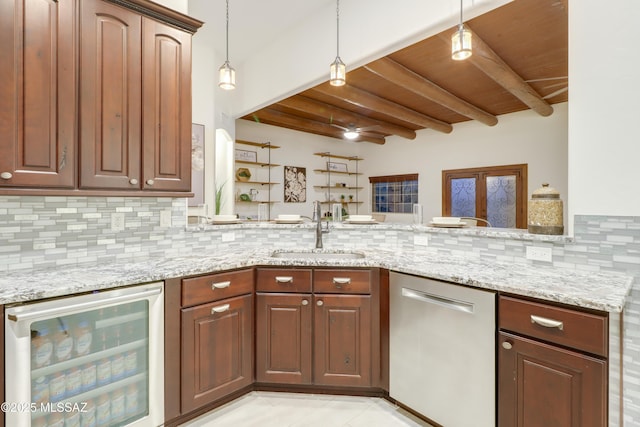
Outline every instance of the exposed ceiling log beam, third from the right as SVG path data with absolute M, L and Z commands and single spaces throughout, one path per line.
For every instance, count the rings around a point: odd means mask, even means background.
M 348 84 L 340 87 L 329 87 L 327 84 L 323 84 L 309 90 L 311 93 L 318 92 L 326 96 L 331 96 L 357 107 L 366 108 L 407 123 L 413 123 L 420 127 L 431 128 L 443 133 L 450 133 L 453 130 L 453 127 L 449 123 L 425 116 L 403 105 L 380 98 L 379 96 Z

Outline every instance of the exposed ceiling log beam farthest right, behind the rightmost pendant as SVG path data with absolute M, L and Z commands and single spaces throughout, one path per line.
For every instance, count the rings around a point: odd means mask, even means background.
M 467 26 L 468 28 L 468 26 Z M 553 107 L 529 86 L 497 53 L 487 45 L 484 40 L 473 32 L 473 54 L 466 59 L 475 65 L 480 71 L 493 79 L 500 86 L 508 90 L 513 96 L 522 101 L 541 116 L 550 116 Z M 442 40 L 451 43 L 450 39 L 442 36 Z

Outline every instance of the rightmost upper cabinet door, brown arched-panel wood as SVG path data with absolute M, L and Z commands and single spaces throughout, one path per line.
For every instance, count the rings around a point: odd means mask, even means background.
M 191 190 L 191 35 L 143 18 L 143 177 L 147 190 Z

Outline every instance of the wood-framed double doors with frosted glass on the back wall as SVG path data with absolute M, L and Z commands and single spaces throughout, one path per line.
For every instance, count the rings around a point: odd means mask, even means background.
M 442 171 L 442 214 L 527 228 L 527 165 Z M 478 223 L 478 225 L 482 225 Z

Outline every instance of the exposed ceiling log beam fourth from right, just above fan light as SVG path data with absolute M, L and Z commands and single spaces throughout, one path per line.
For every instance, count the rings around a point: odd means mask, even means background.
M 349 126 L 351 124 L 356 127 L 375 126 L 375 130 L 379 133 L 398 135 L 408 139 L 416 138 L 416 132 L 412 129 L 382 120 L 372 119 L 370 117 L 363 116 L 362 114 L 354 113 L 353 111 L 345 110 L 305 96 L 287 98 L 278 102 L 278 105 L 282 105 L 283 107 L 291 108 L 293 110 L 311 113 L 319 117 L 325 117 L 327 120 L 333 117 L 333 120 L 337 121 L 339 118 L 340 122 L 344 126 Z

